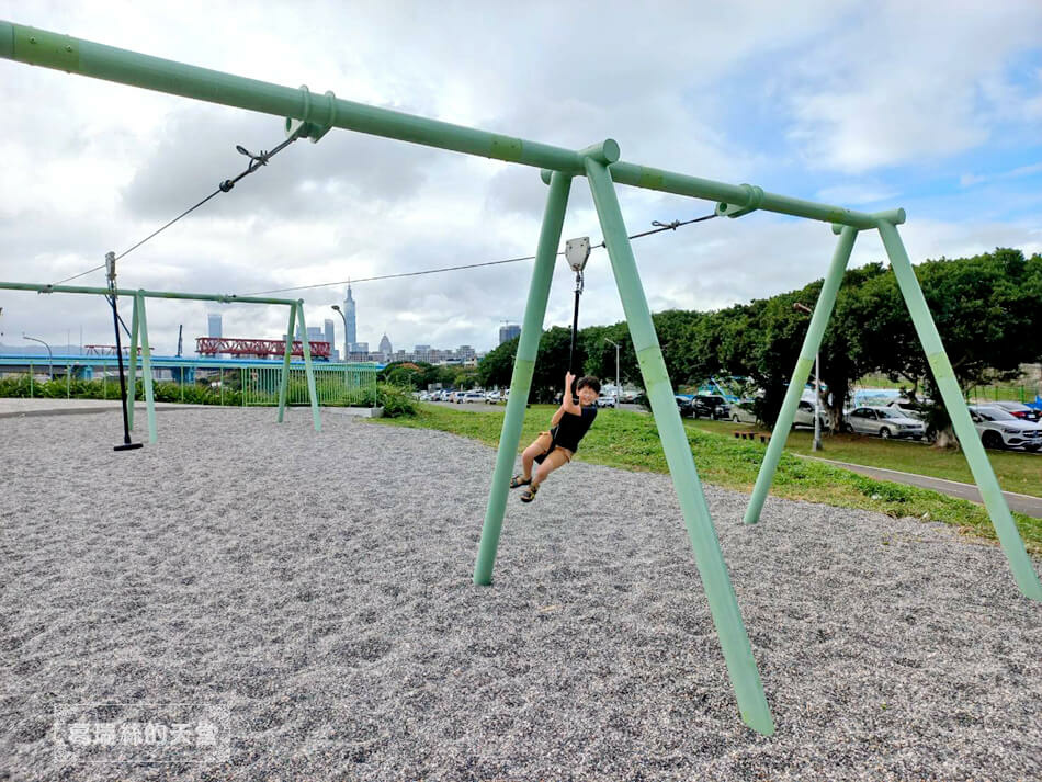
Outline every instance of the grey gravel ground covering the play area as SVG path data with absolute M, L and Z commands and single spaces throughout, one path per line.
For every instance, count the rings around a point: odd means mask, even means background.
M 995 546 L 777 499 L 750 528 L 707 487 L 767 738 L 668 476 L 511 497 L 474 587 L 492 449 L 273 419 L 162 413 L 120 454 L 117 413 L 0 423 L 0 779 L 1042 779 L 1042 607 Z M 217 750 L 172 762 L 68 733 L 204 706 Z

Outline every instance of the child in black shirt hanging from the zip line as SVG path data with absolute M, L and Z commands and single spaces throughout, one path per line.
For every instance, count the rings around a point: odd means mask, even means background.
M 510 479 L 511 489 L 526 487 L 521 492 L 522 502 L 534 500 L 535 492 L 550 474 L 571 461 L 575 452 L 579 450 L 579 441 L 597 418 L 597 397 L 601 395 L 601 382 L 589 375 L 580 377 L 575 386 L 578 401 L 571 396 L 574 382 L 575 375 L 568 372 L 565 375 L 560 407 L 550 419 L 550 431 L 540 432 L 535 441 L 524 449 L 521 454 L 521 475 Z M 532 465 L 536 462 L 540 466 L 533 475 Z

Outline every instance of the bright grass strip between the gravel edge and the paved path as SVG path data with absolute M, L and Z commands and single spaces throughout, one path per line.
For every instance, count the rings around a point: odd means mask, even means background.
M 526 446 L 540 431 L 547 428 L 550 417 L 555 409 L 551 405 L 532 405 L 526 410 L 521 447 Z M 502 418 L 503 408 L 456 410 L 437 405 L 420 405 L 420 411 L 416 417 L 373 419 L 373 422 L 381 426 L 437 429 L 478 440 L 496 447 L 499 444 Z M 747 427 L 743 428 L 747 429 Z M 684 420 L 684 429 L 688 432 L 688 441 L 691 443 L 699 475 L 704 481 L 745 492 L 752 490 L 766 446 L 759 442 L 735 439 L 732 432 L 736 427 L 733 423 L 701 419 Z M 806 435 L 797 432 L 796 438 L 799 441 L 801 438 L 805 439 Z M 915 449 L 906 443 L 891 444 L 891 447 L 896 446 L 914 449 L 915 454 L 929 450 Z M 830 449 L 831 442 L 826 443 L 826 447 Z M 809 440 L 806 440 L 806 450 L 809 452 Z M 823 455 L 856 461 L 840 456 L 838 453 L 838 450 L 829 450 L 823 452 Z M 1016 456 L 1016 454 L 997 455 Z M 955 454 L 951 456 L 962 458 Z M 1039 460 L 1030 455 L 1021 456 L 1026 461 Z M 576 454 L 576 458 L 621 469 L 668 472 L 666 455 L 662 453 L 654 420 L 650 416 L 628 410 L 601 410 L 597 417 L 597 423 L 582 440 L 582 446 Z M 892 464 L 893 462 L 890 462 L 882 466 L 890 467 Z M 902 467 L 891 468 L 901 469 Z M 922 473 L 921 469 L 914 472 Z M 924 474 L 932 475 L 932 473 Z M 1010 487 L 1004 481 L 1001 474 L 999 481 L 1003 483 L 1004 488 L 1013 491 L 1022 490 Z M 984 508 L 973 502 L 914 486 L 873 480 L 828 464 L 799 458 L 788 452 L 782 454 L 778 465 L 771 494 L 843 508 L 864 508 L 895 518 L 932 519 L 954 524 L 962 531 L 979 537 L 995 539 L 992 522 Z M 1042 519 L 1031 519 L 1020 513 L 1013 513 L 1013 519 L 1028 549 L 1033 554 L 1042 554 Z

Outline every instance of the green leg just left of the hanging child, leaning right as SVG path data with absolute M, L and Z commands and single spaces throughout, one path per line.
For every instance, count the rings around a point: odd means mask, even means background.
M 560 246 L 560 230 L 568 207 L 568 192 L 571 190 L 571 177 L 554 173 L 550 181 L 546 208 L 543 212 L 543 227 L 540 229 L 539 245 L 535 250 L 535 268 L 529 284 L 529 299 L 524 306 L 524 320 L 521 324 L 521 338 L 518 340 L 518 354 L 513 362 L 513 375 L 510 378 L 510 399 L 503 428 L 499 435 L 499 451 L 496 454 L 496 471 L 488 491 L 488 506 L 485 509 L 485 523 L 482 526 L 482 543 L 477 562 L 474 564 L 474 583 L 487 586 L 492 581 L 492 568 L 496 565 L 496 552 L 499 548 L 499 534 L 502 531 L 503 513 L 507 508 L 510 474 L 518 458 L 518 444 L 521 441 L 521 426 L 524 422 L 524 409 L 532 388 L 532 373 L 535 370 L 535 356 L 543 331 L 543 318 L 546 316 L 546 301 L 554 279 L 557 263 L 557 248 Z

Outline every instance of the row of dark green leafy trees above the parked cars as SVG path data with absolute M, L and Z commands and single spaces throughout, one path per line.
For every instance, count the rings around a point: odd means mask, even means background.
M 1042 359 L 1042 256 L 996 249 L 972 258 L 928 260 L 915 268 L 955 376 L 965 389 L 1008 377 L 1022 363 Z M 745 375 L 763 392 L 759 413 L 771 422 L 792 376 L 809 317 L 793 307 L 813 307 L 818 280 L 800 291 L 712 313 L 667 310 L 653 316 L 666 367 L 675 387 L 717 374 Z M 554 328 L 540 341 L 533 398 L 559 390 L 568 363 L 570 332 Z M 591 326 L 577 339 L 577 370 L 605 379 L 615 376 L 615 348 L 623 382 L 641 384 L 625 322 Z M 483 359 L 480 382 L 507 385 L 517 340 Z M 937 396 L 929 364 L 893 271 L 882 263 L 848 270 L 820 349 L 822 382 L 831 390 L 831 420 L 838 423 L 850 386 L 880 372 L 906 379 L 915 390 Z

